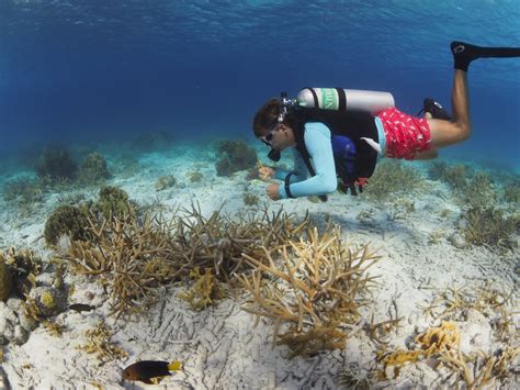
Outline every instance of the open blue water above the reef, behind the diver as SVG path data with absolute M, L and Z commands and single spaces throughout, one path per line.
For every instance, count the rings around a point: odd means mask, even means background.
M 149 131 L 252 140 L 267 98 L 307 86 L 449 107 L 454 38 L 520 46 L 518 1 L 0 0 L 0 152 Z M 468 77 L 474 132 L 443 156 L 518 169 L 520 58 Z

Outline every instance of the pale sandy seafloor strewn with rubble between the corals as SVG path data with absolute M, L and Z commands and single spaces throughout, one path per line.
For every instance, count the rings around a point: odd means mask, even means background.
M 263 149 L 259 152 L 264 153 Z M 121 170 L 116 161 L 108 157 L 109 169 Z M 267 163 L 267 160 L 264 159 Z M 131 199 L 139 203 L 155 200 L 167 205 L 185 204 L 195 200 L 204 214 L 218 209 L 235 214 L 244 210 L 244 192 L 264 198 L 264 188 L 248 182 L 246 171 L 229 178 L 217 177 L 215 155 L 210 149 L 195 149 L 178 145 L 165 153 L 151 153 L 139 158 L 137 175 L 114 175 L 109 185 L 124 189 Z M 417 163 L 421 167 L 420 163 Z M 197 168 L 203 181 L 190 183 L 185 174 Z M 156 191 L 155 183 L 161 175 L 173 174 L 184 186 Z M 460 208 L 452 200 L 450 189 L 440 181 L 430 181 L 431 190 L 420 196 L 408 196 L 415 202 L 409 213 L 396 212 L 391 204 L 377 205 L 362 198 L 332 194 L 327 203 L 314 203 L 307 199 L 269 202 L 272 210 L 283 205 L 290 213 L 304 215 L 308 210 L 315 222 L 325 226 L 326 215 L 341 226 L 348 245 L 370 243 L 378 248 L 382 259 L 371 268 L 371 275 L 381 276 L 373 289 L 371 311 L 375 321 L 389 319 L 389 311 L 397 309 L 404 316 L 402 326 L 389 336 L 389 346 L 405 348 L 407 341 L 440 321 L 427 319 L 418 305 L 431 301 L 428 286 L 445 288 L 463 286 L 479 280 L 490 280 L 507 291 L 515 290 L 518 299 L 519 249 L 498 255 L 485 247 L 456 248 L 448 236 L 455 232 Z M 184 187 L 184 188 L 182 188 Z M 75 190 L 77 192 L 78 190 Z M 84 191 L 94 198 L 97 189 Z M 406 196 L 405 196 L 406 197 Z M 46 218 L 58 204 L 58 194 L 47 194 L 35 214 L 20 219 L 16 211 L 0 200 L 0 248 L 29 247 L 44 259 L 53 252 L 46 248 L 42 237 Z M 440 213 L 449 210 L 446 218 Z M 363 213 L 362 213 L 363 212 Z M 358 216 L 364 216 L 359 219 Z M 430 243 L 432 233 L 444 230 L 438 243 Z M 518 243 L 518 237 L 513 237 Z M 67 279 L 66 279 L 67 281 Z M 0 388 L 12 389 L 82 389 L 100 386 L 104 389 L 161 388 L 161 389 L 335 389 L 338 374 L 350 369 L 363 377 L 374 368 L 376 346 L 366 332 L 358 332 L 343 349 L 326 352 L 314 357 L 286 358 L 287 348 L 272 347 L 272 322 L 261 320 L 253 327 L 255 317 L 240 309 L 244 300 L 226 299 L 216 307 L 195 312 L 177 298 L 180 287 L 165 289 L 160 302 L 136 321 L 117 322 L 106 317 L 109 303 L 95 282 L 77 279 L 71 302 L 95 305 L 92 312 L 65 311 L 56 320 L 66 325 L 60 337 L 52 336 L 43 326 L 33 331 L 23 345 L 3 347 Z M 84 302 L 84 293 L 92 292 Z M 93 297 L 93 298 L 92 298 Z M 395 302 L 395 303 L 394 303 Z M 518 301 L 517 301 L 518 302 Z M 370 321 L 371 311 L 363 312 Z M 100 365 L 93 355 L 76 349 L 84 342 L 84 331 L 104 317 L 114 330 L 113 341 L 126 352 L 124 360 Z M 516 336 L 512 345 L 519 346 L 519 316 L 513 317 Z M 463 345 L 471 350 L 494 352 L 490 324 L 487 319 L 473 313 L 473 319 L 457 323 Z M 516 344 L 515 344 L 516 343 Z M 473 349 L 472 349 L 473 348 Z M 184 371 L 174 372 L 160 385 L 123 382 L 122 369 L 140 359 L 181 360 Z M 518 358 L 511 367 L 519 372 Z M 449 371 L 434 370 L 426 363 L 407 364 L 395 379 L 377 382 L 374 388 L 448 388 L 442 379 Z M 520 379 L 511 375 L 506 388 L 519 388 Z

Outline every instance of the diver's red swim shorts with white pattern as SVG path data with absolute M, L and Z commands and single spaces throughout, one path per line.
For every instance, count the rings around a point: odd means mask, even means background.
M 377 112 L 386 136 L 386 157 L 414 159 L 416 153 L 431 148 L 430 126 L 395 108 Z

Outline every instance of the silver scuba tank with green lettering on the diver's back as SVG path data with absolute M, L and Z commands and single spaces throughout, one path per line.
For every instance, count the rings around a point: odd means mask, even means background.
M 342 88 L 304 88 L 296 98 L 297 104 L 337 111 L 369 111 L 372 114 L 395 107 L 389 92 Z

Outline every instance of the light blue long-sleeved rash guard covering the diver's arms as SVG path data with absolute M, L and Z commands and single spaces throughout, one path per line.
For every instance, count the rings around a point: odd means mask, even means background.
M 320 196 L 336 191 L 338 180 L 330 130 L 319 122 L 307 123 L 305 124 L 304 141 L 316 176 L 308 177 L 304 159 L 296 147 L 293 147 L 294 169 L 292 171 L 276 169 L 274 177 L 283 181 L 289 174 L 293 174 L 290 179 L 290 190 L 294 198 Z M 283 185 L 280 186 L 280 196 L 282 199 L 289 198 Z

